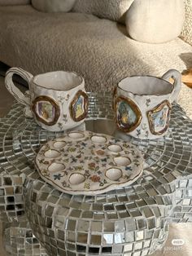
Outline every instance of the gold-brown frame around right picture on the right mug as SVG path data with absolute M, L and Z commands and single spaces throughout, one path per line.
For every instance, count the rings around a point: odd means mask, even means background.
M 157 113 L 157 112 L 161 111 L 164 108 L 164 106 L 168 106 L 168 117 L 167 117 L 167 121 L 166 121 L 166 126 L 164 127 L 163 130 L 155 131 L 152 115 L 154 113 Z M 149 126 L 150 126 L 150 130 L 151 130 L 152 135 L 163 135 L 164 132 L 166 130 L 168 130 L 171 110 L 172 110 L 172 105 L 166 99 L 162 103 L 158 104 L 155 108 L 152 108 L 151 110 L 147 111 L 146 115 L 147 115 L 147 118 L 148 118 L 148 121 L 149 121 Z

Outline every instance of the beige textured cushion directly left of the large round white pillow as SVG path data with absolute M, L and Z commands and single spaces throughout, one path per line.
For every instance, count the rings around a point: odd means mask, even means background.
M 124 22 L 124 14 L 134 0 L 76 0 L 73 11 Z

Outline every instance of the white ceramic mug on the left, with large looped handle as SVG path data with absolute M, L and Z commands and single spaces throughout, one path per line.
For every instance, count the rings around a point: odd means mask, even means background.
M 13 83 L 14 74 L 28 82 L 29 95 Z M 88 111 L 84 78 L 73 72 L 55 71 L 35 77 L 21 68 L 10 68 L 5 84 L 11 95 L 26 107 L 24 113 L 35 117 L 37 124 L 50 131 L 68 130 L 79 126 Z

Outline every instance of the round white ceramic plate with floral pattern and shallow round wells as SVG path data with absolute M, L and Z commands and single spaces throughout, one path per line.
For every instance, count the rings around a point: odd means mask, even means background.
M 143 162 L 133 144 L 90 131 L 50 140 L 36 157 L 42 179 L 62 192 L 83 195 L 130 185 L 142 174 Z

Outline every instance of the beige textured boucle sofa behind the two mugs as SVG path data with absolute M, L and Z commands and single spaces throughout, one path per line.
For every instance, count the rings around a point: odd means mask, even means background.
M 111 90 L 123 77 L 162 76 L 191 64 L 191 1 L 181 38 L 149 44 L 129 38 L 124 24 L 85 13 L 44 13 L 31 5 L 0 7 L 0 61 L 30 73 L 73 70 L 87 90 Z M 191 44 L 191 45 L 190 45 Z

